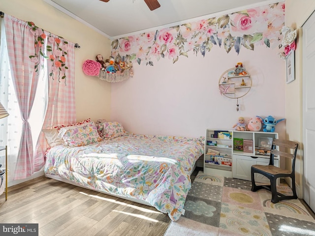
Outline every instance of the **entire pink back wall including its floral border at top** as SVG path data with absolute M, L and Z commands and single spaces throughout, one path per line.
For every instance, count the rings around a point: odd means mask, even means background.
M 132 60 L 134 77 L 112 85 L 111 119 L 134 133 L 198 137 L 206 128 L 232 129 L 240 116 L 284 118 L 283 25 L 284 2 L 114 40 L 112 56 Z M 237 62 L 252 76 L 238 112 L 218 86 Z M 284 131 L 283 121 L 276 132 L 284 138 Z

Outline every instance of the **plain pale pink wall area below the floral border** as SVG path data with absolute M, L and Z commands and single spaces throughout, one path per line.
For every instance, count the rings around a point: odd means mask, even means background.
M 199 137 L 206 128 L 232 129 L 238 117 L 284 118 L 284 61 L 277 49 L 255 46 L 254 51 L 213 47 L 205 57 L 189 52 L 176 63 L 153 61 L 154 66 L 133 63 L 134 76 L 111 87 L 111 120 L 127 131 Z M 239 99 L 220 94 L 221 74 L 243 62 L 252 76 L 252 89 Z M 276 126 L 284 138 L 285 122 Z

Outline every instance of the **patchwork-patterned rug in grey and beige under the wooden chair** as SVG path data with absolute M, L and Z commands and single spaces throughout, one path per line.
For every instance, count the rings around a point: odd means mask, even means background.
M 189 190 L 185 215 L 164 236 L 315 236 L 315 219 L 300 200 L 271 203 L 267 190 L 251 181 L 199 172 Z M 287 184 L 277 187 L 291 194 Z

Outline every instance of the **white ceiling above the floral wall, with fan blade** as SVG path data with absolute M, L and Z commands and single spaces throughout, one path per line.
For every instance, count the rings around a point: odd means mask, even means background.
M 158 0 L 150 11 L 144 0 L 44 0 L 110 39 L 266 5 L 282 0 Z

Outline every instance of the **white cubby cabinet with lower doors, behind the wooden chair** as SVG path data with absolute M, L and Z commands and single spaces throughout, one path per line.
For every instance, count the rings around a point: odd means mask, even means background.
M 252 152 L 244 152 L 234 150 L 234 139 L 239 138 L 243 140 L 252 140 Z M 244 180 L 251 180 L 252 165 L 268 165 L 270 155 L 255 154 L 255 147 L 258 147 L 259 138 L 270 138 L 272 140 L 278 139 L 278 133 L 273 132 L 253 132 L 253 131 L 233 131 L 233 146 L 232 146 L 232 177 Z M 279 157 L 275 156 L 274 165 L 279 167 Z M 255 181 L 261 183 L 268 183 L 269 179 L 255 174 Z

